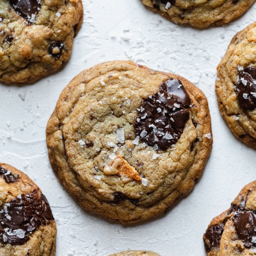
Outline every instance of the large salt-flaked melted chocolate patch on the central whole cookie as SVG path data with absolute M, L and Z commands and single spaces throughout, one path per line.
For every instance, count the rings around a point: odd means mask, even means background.
M 190 98 L 182 82 L 169 78 L 138 109 L 135 134 L 148 145 L 166 150 L 179 140 L 189 120 L 189 105 Z

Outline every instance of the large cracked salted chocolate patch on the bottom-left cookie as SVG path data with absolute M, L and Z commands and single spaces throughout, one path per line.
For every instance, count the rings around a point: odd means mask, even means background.
M 44 195 L 34 190 L 18 195 L 0 209 L 0 241 L 12 245 L 26 243 L 32 232 L 54 220 Z

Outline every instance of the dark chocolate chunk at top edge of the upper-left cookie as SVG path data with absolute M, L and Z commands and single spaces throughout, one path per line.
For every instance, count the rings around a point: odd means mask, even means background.
M 35 15 L 40 10 L 39 0 L 9 0 L 14 10 L 28 23 L 34 22 Z

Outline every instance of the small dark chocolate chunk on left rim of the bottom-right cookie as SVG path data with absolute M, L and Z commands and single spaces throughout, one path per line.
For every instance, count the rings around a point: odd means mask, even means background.
M 204 234 L 204 246 L 207 251 L 219 248 L 224 229 L 224 224 L 209 227 Z

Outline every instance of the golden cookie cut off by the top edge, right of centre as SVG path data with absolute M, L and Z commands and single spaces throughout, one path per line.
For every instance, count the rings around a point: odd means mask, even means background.
M 168 20 L 193 27 L 223 25 L 245 13 L 255 0 L 142 0 Z

